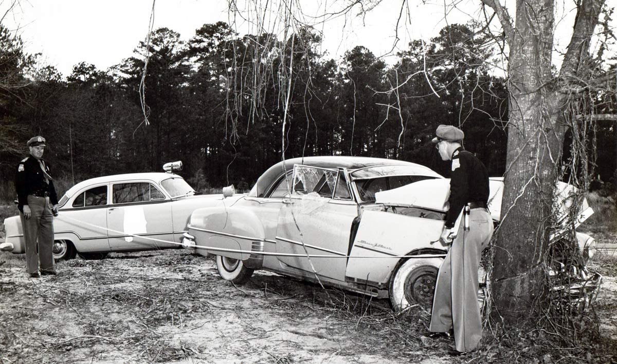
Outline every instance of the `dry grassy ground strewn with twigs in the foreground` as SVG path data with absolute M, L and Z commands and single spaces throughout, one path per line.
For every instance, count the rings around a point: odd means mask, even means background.
M 613 258 L 601 259 L 613 266 L 617 264 Z M 12 269 L 0 265 L 0 275 L 25 274 L 22 255 L 2 253 L 0 260 L 19 266 Z M 211 258 L 189 255 L 183 250 L 113 253 L 101 261 L 62 261 L 60 276 L 41 279 L 38 284 L 0 284 L 0 305 L 5 308 L 0 311 L 0 352 L 13 362 L 60 363 L 72 361 L 75 356 L 83 362 L 162 363 L 186 358 L 216 362 L 216 357 L 210 355 L 235 355 L 225 347 L 242 342 L 249 345 L 249 341 L 232 336 L 227 344 L 212 342 L 219 348 L 213 349 L 210 344 L 178 339 L 178 332 L 199 337 L 199 325 L 231 315 L 239 320 L 233 322 L 244 326 L 252 338 L 267 341 L 277 330 L 307 339 L 337 338 L 345 345 L 313 354 L 326 352 L 349 358 L 346 362 L 359 354 L 377 355 L 384 362 L 443 358 L 453 363 L 540 364 L 612 363 L 617 359 L 610 354 L 617 352 L 616 342 L 598 336 L 594 330 L 598 311 L 587 313 L 581 320 L 586 327 L 579 328 L 581 335 L 576 347 L 556 341 L 547 329 L 486 328 L 480 350 L 450 358 L 445 352 L 451 341 L 421 337 L 428 327 L 429 314 L 417 307 L 396 315 L 387 300 L 337 289 L 323 290 L 316 284 L 259 272 L 246 285 L 236 287 L 220 280 L 212 270 Z M 33 302 L 33 308 L 20 309 L 24 302 Z M 600 313 L 610 310 L 610 305 L 598 306 Z M 292 328 L 275 324 L 275 331 L 262 332 L 254 326 L 259 315 L 292 323 Z M 307 321 L 320 323 L 323 331 L 308 329 Z M 257 345 L 255 350 L 267 350 L 271 360 L 262 362 L 305 362 L 297 353 L 276 348 L 275 344 Z

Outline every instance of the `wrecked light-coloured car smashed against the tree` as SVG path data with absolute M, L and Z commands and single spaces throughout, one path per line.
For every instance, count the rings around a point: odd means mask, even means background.
M 247 195 L 193 211 L 183 245 L 215 255 L 220 276 L 236 284 L 266 269 L 389 298 L 395 310 L 429 309 L 449 248 L 438 241 L 449 184 L 404 161 L 288 159 L 264 172 Z M 492 197 L 502 185 L 492 180 Z M 499 221 L 500 197 L 493 200 Z M 589 239 L 581 235 L 592 249 Z

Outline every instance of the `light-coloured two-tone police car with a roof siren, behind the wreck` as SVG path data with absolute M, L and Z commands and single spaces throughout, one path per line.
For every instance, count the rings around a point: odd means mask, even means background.
M 204 198 L 222 198 L 195 192 L 174 173 L 181 165 L 167 163 L 167 172 L 96 177 L 71 187 L 54 218 L 54 258 L 100 259 L 108 252 L 180 247 L 193 210 Z M 19 216 L 5 219 L 4 229 L 0 250 L 25 253 Z

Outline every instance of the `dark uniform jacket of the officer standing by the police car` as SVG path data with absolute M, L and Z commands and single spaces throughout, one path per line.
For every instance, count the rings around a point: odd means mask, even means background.
M 43 161 L 43 159 L 41 159 Z M 45 171 L 51 176 L 51 170 L 49 164 L 43 161 Z M 22 159 L 17 166 L 17 172 L 15 172 L 15 189 L 17 190 L 17 200 L 19 211 L 23 211 L 23 205 L 28 205 L 28 195 L 36 197 L 47 197 L 52 205 L 58 203 L 58 197 L 56 195 L 56 188 L 54 188 L 54 182 L 49 180 L 49 184 L 45 182 L 45 176 L 41 169 L 39 161 L 30 156 Z

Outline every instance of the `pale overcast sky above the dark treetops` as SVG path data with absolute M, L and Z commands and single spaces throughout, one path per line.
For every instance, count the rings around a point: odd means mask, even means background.
M 15 0 L 0 0 L 2 14 L 12 1 Z M 399 48 L 412 39 L 428 40 L 446 25 L 444 2 L 433 0 L 431 4 L 430 1 L 428 4 L 409 1 L 412 4 L 404 13 L 410 14 L 410 18 L 401 20 Z M 479 2 L 458 2 L 458 9 L 448 14 L 448 22 L 466 22 L 470 17 L 480 17 Z M 323 9 L 336 10 L 333 3 L 336 5 L 336 0 L 300 2 L 302 12 L 307 15 L 303 20 L 312 22 L 310 15 L 321 14 Z M 383 0 L 366 17 L 338 17 L 318 25 L 317 29 L 324 32 L 323 50 L 334 58 L 357 45 L 366 46 L 377 56 L 388 53 L 396 35 L 400 3 L 401 0 Z M 248 9 L 246 0 L 239 0 L 238 4 L 245 6 L 242 11 Z M 230 19 L 227 6 L 227 0 L 157 0 L 154 28 L 170 28 L 180 33 L 183 40 L 188 40 L 204 23 L 231 23 L 233 19 Z M 78 62 L 88 62 L 106 70 L 130 57 L 139 41 L 146 37 L 151 10 L 152 0 L 20 0 L 19 7 L 7 15 L 3 25 L 17 30 L 29 53 L 42 53 L 44 62 L 56 66 L 66 76 Z M 357 14 L 356 8 L 353 15 Z M 276 12 L 270 15 L 266 28 L 273 28 L 272 24 L 280 21 Z M 567 33 L 571 20 L 561 23 Z M 256 29 L 241 17 L 236 17 L 234 27 L 241 34 Z M 567 41 L 561 41 L 558 46 L 566 44 Z

